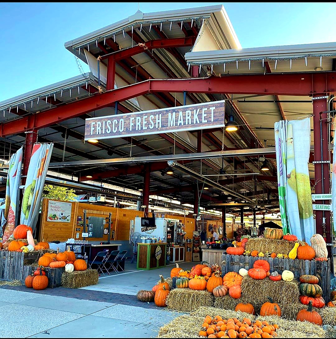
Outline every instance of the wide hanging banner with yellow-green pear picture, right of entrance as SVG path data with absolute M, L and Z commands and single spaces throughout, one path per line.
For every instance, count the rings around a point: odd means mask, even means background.
M 310 119 L 276 122 L 274 133 L 283 231 L 309 243 L 315 233 L 308 171 Z

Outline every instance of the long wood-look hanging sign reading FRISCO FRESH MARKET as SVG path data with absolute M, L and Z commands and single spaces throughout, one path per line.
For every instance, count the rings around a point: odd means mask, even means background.
M 224 126 L 225 101 L 117 114 L 85 120 L 85 140 Z

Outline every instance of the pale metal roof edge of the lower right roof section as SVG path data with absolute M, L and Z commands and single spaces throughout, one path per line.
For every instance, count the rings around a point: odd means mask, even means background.
M 330 56 L 336 56 L 336 42 L 188 52 L 185 54 L 185 60 L 187 63 L 199 65 L 220 64 L 236 60 L 288 60 L 304 57 Z

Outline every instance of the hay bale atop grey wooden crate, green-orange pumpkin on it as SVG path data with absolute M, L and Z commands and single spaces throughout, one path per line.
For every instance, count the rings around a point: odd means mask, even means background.
M 262 253 L 275 252 L 276 254 L 282 253 L 288 255 L 293 247 L 293 241 L 258 238 L 249 239 L 248 242 L 246 242 L 245 250 L 251 252 L 257 250 Z

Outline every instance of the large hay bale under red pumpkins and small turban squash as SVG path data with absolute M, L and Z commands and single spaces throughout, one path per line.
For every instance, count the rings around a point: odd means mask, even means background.
M 299 283 L 293 281 L 272 281 L 270 278 L 262 280 L 252 279 L 247 276 L 241 282 L 241 295 L 243 298 L 252 298 L 258 306 L 268 301 L 271 297 L 278 304 L 290 304 L 299 302 Z

